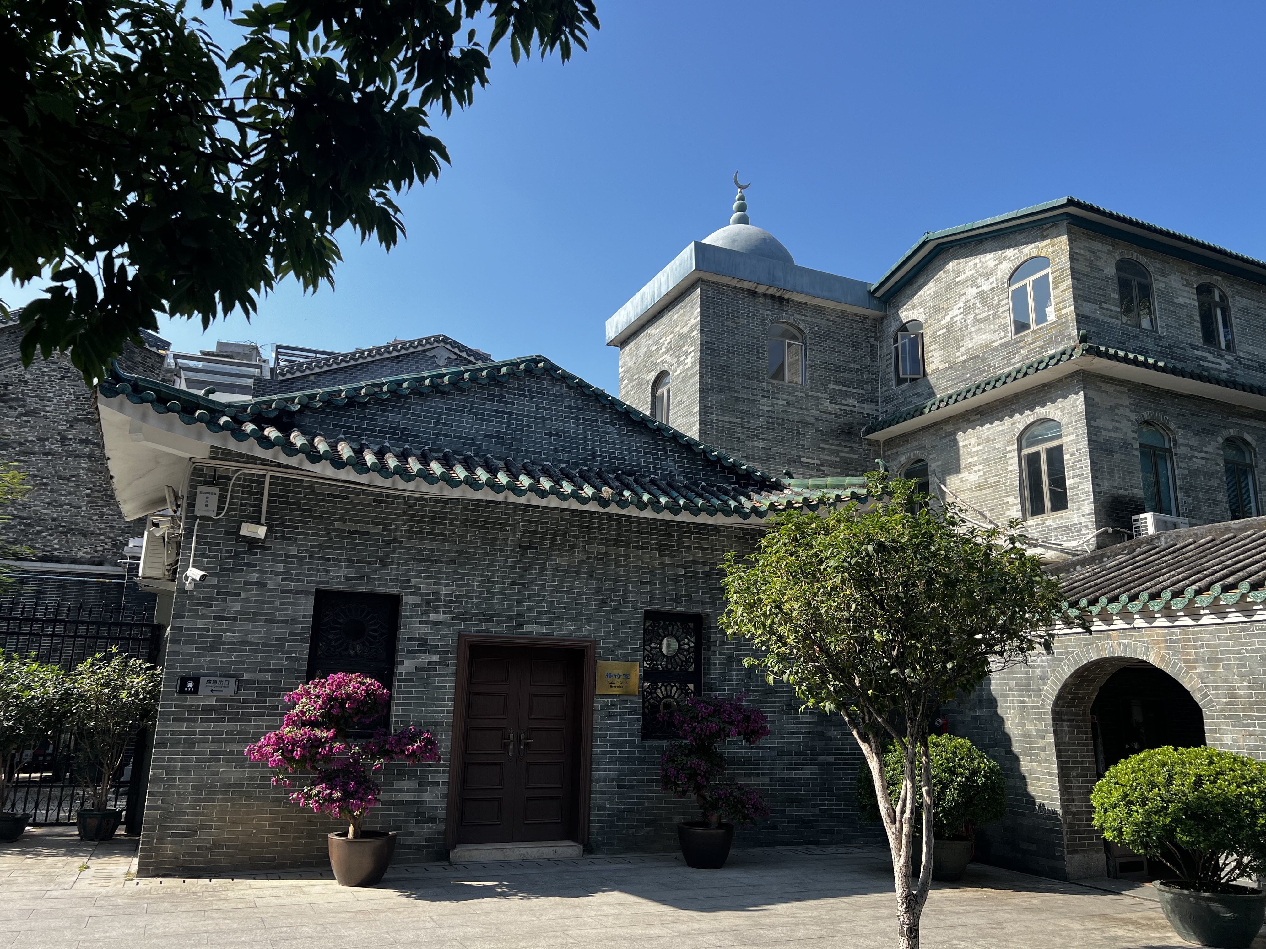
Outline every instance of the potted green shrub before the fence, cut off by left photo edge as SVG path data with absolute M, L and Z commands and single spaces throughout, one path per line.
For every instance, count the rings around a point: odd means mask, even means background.
M 57 730 L 65 711 L 66 676 L 61 667 L 0 650 L 0 841 L 16 840 L 29 814 L 6 811 L 10 783 L 23 752 Z

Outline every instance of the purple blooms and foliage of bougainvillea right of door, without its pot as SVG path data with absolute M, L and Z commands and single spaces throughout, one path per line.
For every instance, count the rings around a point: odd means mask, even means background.
M 677 731 L 660 762 L 660 785 L 679 797 L 694 797 L 711 825 L 722 820 L 753 824 L 768 816 L 768 807 L 755 790 L 725 773 L 722 741 L 739 739 L 752 745 L 770 734 L 765 712 L 733 698 L 691 697 L 685 706 L 665 712 Z

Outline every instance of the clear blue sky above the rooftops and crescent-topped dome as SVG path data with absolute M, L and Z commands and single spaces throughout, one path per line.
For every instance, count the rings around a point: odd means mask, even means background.
M 447 333 L 614 391 L 603 323 L 690 240 L 752 223 L 796 262 L 879 277 L 924 230 L 1062 195 L 1266 258 L 1262 4 L 599 0 L 567 65 L 514 67 L 437 116 L 452 167 L 408 240 L 342 240 L 215 339 L 327 349 Z M 216 27 L 219 33 L 223 27 Z M 22 302 L 29 294 L 4 294 Z

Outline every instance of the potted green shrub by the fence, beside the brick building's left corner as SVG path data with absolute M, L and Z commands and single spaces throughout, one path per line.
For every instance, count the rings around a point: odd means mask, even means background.
M 80 840 L 109 840 L 123 820 L 110 790 L 128 743 L 158 714 L 162 669 L 118 649 L 97 653 L 70 673 L 68 716 L 76 767 L 89 807 L 75 815 Z

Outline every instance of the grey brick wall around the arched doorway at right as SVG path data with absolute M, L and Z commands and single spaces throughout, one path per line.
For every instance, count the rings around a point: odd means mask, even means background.
M 1218 621 L 1205 612 L 1201 625 L 1162 616 L 1062 635 L 1052 655 L 995 673 L 948 709 L 951 731 L 971 738 L 1008 778 L 1008 815 L 977 831 L 977 854 L 1043 876 L 1104 876 L 1090 825 L 1090 702 L 1127 663 L 1151 663 L 1182 682 L 1210 745 L 1266 758 L 1266 620 L 1256 607 L 1223 609 Z

